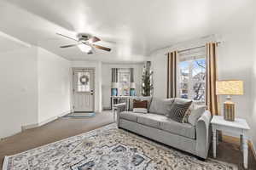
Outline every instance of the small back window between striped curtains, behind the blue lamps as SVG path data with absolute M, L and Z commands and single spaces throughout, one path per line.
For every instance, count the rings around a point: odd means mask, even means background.
M 131 69 L 119 69 L 119 95 L 130 95 Z

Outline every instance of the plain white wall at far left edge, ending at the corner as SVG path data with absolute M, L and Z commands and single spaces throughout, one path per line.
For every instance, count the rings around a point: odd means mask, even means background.
M 0 54 L 0 139 L 38 121 L 37 48 Z

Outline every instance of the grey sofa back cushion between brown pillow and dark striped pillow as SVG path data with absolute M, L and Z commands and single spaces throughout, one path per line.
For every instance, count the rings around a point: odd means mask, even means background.
M 149 112 L 166 115 L 170 111 L 173 102 L 174 99 L 153 98 L 149 108 Z

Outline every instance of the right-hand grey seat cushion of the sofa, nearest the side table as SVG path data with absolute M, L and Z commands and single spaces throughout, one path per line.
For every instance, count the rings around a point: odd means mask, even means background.
M 169 133 L 181 135 L 189 139 L 195 139 L 195 127 L 189 123 L 180 123 L 173 121 L 172 119 L 166 119 L 160 123 L 160 128 Z

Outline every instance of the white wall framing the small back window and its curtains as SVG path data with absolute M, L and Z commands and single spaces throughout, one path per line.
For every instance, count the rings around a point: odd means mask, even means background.
M 102 64 L 102 105 L 110 108 L 111 96 L 111 69 L 112 68 L 134 68 L 134 82 L 136 82 L 136 95 L 140 95 L 143 76 L 143 64 Z

